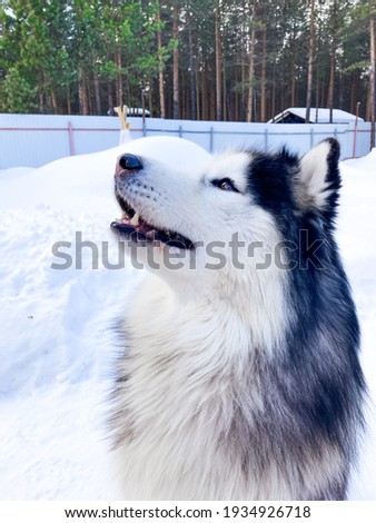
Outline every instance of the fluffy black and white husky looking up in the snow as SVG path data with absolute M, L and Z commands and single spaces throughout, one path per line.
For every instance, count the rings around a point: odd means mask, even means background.
M 344 500 L 359 327 L 334 239 L 339 145 L 118 159 L 111 224 L 149 275 L 111 418 L 127 500 Z M 135 259 L 136 259 L 135 258 Z

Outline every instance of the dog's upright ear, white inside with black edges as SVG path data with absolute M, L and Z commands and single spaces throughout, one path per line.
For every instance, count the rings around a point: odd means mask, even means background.
M 321 141 L 300 159 L 296 197 L 301 213 L 335 216 L 340 188 L 339 144 L 334 138 Z

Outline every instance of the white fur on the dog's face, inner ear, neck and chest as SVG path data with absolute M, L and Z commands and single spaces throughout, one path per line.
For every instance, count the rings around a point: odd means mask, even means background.
M 320 193 L 327 150 L 309 155 L 301 162 L 308 199 L 310 190 Z M 231 440 L 235 411 L 251 424 L 264 408 L 259 373 L 249 382 L 245 372 L 259 365 L 256 348 L 263 347 L 266 359 L 278 357 L 275 351 L 283 346 L 289 322 L 286 272 L 275 264 L 255 268 L 281 239 L 274 217 L 250 203 L 249 194 L 210 186 L 211 179 L 230 172 L 239 189 L 246 189 L 249 154 L 220 156 L 196 174 L 154 160 L 144 164 L 142 184 L 129 184 L 126 193 L 147 221 L 205 245 L 214 239 L 228 245 L 239 233 L 247 245 L 263 241 L 264 247 L 251 260 L 239 250 L 245 270 L 234 270 L 231 263 L 205 268 L 204 248 L 194 255 L 196 270 L 189 269 L 189 251 L 181 269 L 168 270 L 164 248 L 154 247 L 162 268 L 144 282 L 123 324 L 129 346 L 120 364 L 126 379 L 117 394 L 120 444 L 115 451 L 121 499 L 294 500 L 305 484 L 319 493 L 340 468 L 336 451 L 306 455 L 299 470 L 294 463 L 281 470 L 271 461 L 258 476 L 245 474 L 243 453 L 234 452 L 244 444 Z M 146 253 L 138 249 L 138 259 L 147 264 Z

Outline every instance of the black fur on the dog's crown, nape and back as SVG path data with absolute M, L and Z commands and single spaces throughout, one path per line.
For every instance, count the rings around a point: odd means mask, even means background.
M 256 195 L 256 203 L 275 216 L 286 241 L 301 244 L 301 230 L 306 231 L 308 244 L 320 241 L 316 255 L 324 264 L 323 269 L 315 260 L 309 263 L 309 250 L 304 245 L 288 250 L 293 267 L 289 272 L 289 302 L 294 313 L 288 351 L 283 364 L 277 362 L 269 368 L 275 392 L 266 391 L 265 397 L 278 394 L 285 401 L 286 413 L 294 412 L 294 416 L 290 420 L 281 416 L 280 405 L 277 412 L 269 402 L 273 420 L 269 428 L 275 430 L 279 416 L 279 430 L 285 433 L 281 440 L 291 441 L 290 450 L 301 452 L 298 441 L 294 444 L 294 434 L 306 438 L 307 448 L 316 453 L 319 453 L 324 441 L 333 442 L 344 462 L 350 465 L 356 453 L 357 428 L 364 427 L 366 386 L 358 359 L 360 333 L 356 309 L 333 236 L 342 186 L 339 145 L 334 139 L 328 141 L 326 181 L 332 193 L 321 209 L 299 208 L 294 190 L 299 158 L 286 149 L 274 156 L 256 154 L 250 164 L 248 184 L 249 193 L 253 197 Z M 318 325 L 320 332 L 317 330 Z M 307 374 L 315 376 L 315 381 L 306 379 Z M 342 481 L 328 486 L 321 499 L 345 499 L 348 473 L 349 466 Z

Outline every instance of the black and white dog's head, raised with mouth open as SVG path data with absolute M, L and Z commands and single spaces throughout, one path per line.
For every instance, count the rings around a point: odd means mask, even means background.
M 125 154 L 115 175 L 122 216 L 111 228 L 139 263 L 161 276 L 184 274 L 198 285 L 201 274 L 209 285 L 218 278 L 241 282 L 234 268 L 270 276 L 280 268 L 275 260 L 267 264 L 278 246 L 284 265 L 300 256 L 293 247 L 299 230 L 330 234 L 338 158 L 334 139 L 301 159 L 285 149 L 234 151 L 194 171 L 184 162 Z

